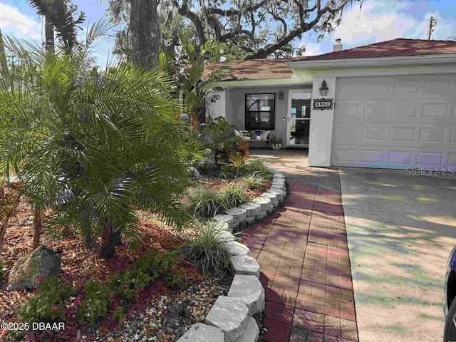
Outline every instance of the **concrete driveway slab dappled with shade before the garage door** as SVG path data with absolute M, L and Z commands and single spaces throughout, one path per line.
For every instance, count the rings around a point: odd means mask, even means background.
M 456 176 L 340 168 L 360 342 L 442 341 Z

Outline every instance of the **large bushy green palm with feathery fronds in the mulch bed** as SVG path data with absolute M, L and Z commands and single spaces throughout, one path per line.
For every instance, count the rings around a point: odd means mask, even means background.
M 12 87 L 0 82 L 0 117 L 14 118 L 0 128 L 0 170 L 13 165 L 33 207 L 52 208 L 50 224 L 72 224 L 89 242 L 102 237 L 105 257 L 118 235 L 138 238 L 135 209 L 185 224 L 186 126 L 175 119 L 172 80 L 130 64 L 83 75 L 87 46 L 44 53 L 24 44 L 6 40 L 22 72 Z

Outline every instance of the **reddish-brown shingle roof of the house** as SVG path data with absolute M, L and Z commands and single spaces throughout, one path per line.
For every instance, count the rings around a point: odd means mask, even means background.
M 456 53 L 456 41 L 428 41 L 423 39 L 397 38 L 390 41 L 381 41 L 358 48 L 348 48 L 342 51 L 323 53 L 317 56 L 249 59 L 245 61 L 231 61 L 209 63 L 204 70 L 204 76 L 221 66 L 229 66 L 233 71 L 231 80 L 265 80 L 271 78 L 291 78 L 293 72 L 286 63 L 294 61 L 327 61 L 346 58 L 376 58 L 397 56 L 438 55 L 442 53 Z M 229 80 L 225 80 L 229 81 Z

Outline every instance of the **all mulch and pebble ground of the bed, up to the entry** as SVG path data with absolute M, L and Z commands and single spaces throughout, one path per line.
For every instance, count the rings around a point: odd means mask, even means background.
M 258 164 L 258 163 L 257 163 Z M 252 180 L 245 177 L 214 178 L 203 177 L 192 189 L 199 188 L 202 192 L 223 194 L 227 192 L 227 207 L 213 206 L 214 212 L 227 209 L 229 206 L 248 202 L 261 195 L 271 182 L 255 175 L 254 183 L 261 185 L 256 188 Z M 249 189 L 250 187 L 250 189 Z M 189 193 L 192 193 L 190 189 Z M 234 191 L 233 191 L 234 190 Z M 242 196 L 239 198 L 239 191 Z M 189 205 L 187 197 L 187 203 Z M 234 199 L 230 199 L 234 198 Z M 47 214 L 51 214 L 48 212 Z M 140 246 L 136 249 L 117 248 L 114 257 L 103 259 L 98 251 L 86 248 L 85 239 L 71 229 L 59 229 L 43 232 L 41 244 L 52 249 L 61 259 L 58 276 L 61 283 L 53 286 L 71 286 L 71 294 L 64 299 L 61 306 L 53 306 L 63 318 L 57 321 L 65 323 L 64 331 L 40 331 L 34 336 L 29 332 L 10 333 L 11 341 L 177 341 L 192 324 L 204 321 L 212 304 L 218 296 L 227 296 L 232 276 L 204 277 L 189 261 L 176 254 L 176 264 L 171 269 L 180 270 L 177 279 L 153 279 L 142 289 L 135 289 L 135 296 L 128 300 L 125 293 L 113 285 L 113 274 L 124 274 L 138 260 L 147 258 L 148 251 L 160 251 L 153 257 L 160 257 L 167 251 L 177 251 L 188 239 L 198 239 L 199 231 L 195 226 L 177 232 L 161 222 L 157 215 L 147 211 L 136 212 L 140 223 Z M 195 214 L 195 212 L 194 212 Z M 199 218 L 209 217 L 198 214 Z M 46 215 L 43 217 L 46 226 Z M 21 199 L 16 214 L 9 222 L 6 239 L 1 253 L 3 284 L 0 290 L 0 319 L 5 322 L 21 322 L 24 319 L 18 309 L 33 299 L 39 291 L 14 291 L 6 289 L 7 278 L 11 268 L 19 257 L 32 252 L 33 242 L 33 210 Z M 123 246 L 125 247 L 125 246 Z M 172 254 L 175 255 L 175 254 Z M 79 307 L 86 299 L 85 286 L 88 280 L 96 286 L 107 289 L 110 299 L 105 300 L 108 310 L 103 314 L 103 306 L 93 309 L 98 314 L 93 321 L 88 317 L 81 318 Z M 125 280 L 125 279 L 124 279 Z M 119 283 L 120 284 L 120 283 Z M 98 289 L 96 288 L 95 289 Z M 134 287 L 134 286 L 133 286 Z M 51 291 L 52 292 L 52 291 Z M 91 310 L 92 310 L 91 309 Z M 92 311 L 93 311 L 92 310 Z M 98 311 L 101 311 L 98 312 Z M 90 310 L 89 310 L 90 311 Z M 103 316 L 103 317 L 102 317 Z M 48 321 L 56 321 L 48 320 Z M 6 339 L 8 331 L 0 332 L 0 338 Z

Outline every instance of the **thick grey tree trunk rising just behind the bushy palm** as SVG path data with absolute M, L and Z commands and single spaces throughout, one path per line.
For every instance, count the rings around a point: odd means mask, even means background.
M 162 43 L 157 0 L 130 1 L 130 36 L 133 65 L 153 68 L 158 64 Z

